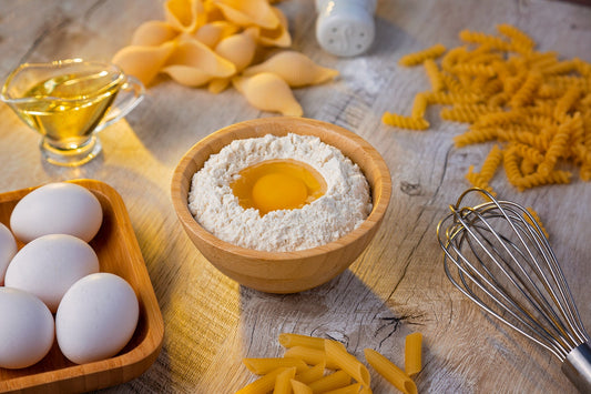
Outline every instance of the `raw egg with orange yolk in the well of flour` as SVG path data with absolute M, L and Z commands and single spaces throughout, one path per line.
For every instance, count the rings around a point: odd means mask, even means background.
M 264 215 L 313 202 L 326 192 L 326 181 L 308 164 L 268 160 L 242 170 L 231 188 L 242 208 L 257 209 Z

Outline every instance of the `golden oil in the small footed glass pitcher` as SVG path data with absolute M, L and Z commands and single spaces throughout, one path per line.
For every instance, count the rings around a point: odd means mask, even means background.
M 29 100 L 16 105 L 16 112 L 29 127 L 50 139 L 53 147 L 78 149 L 89 141 L 121 83 L 121 79 L 106 71 L 52 77 L 29 89 L 22 95 Z

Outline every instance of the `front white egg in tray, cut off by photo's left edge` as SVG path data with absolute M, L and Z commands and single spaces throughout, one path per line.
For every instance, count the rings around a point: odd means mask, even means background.
M 24 368 L 41 361 L 55 337 L 53 316 L 34 295 L 0 287 L 0 367 Z

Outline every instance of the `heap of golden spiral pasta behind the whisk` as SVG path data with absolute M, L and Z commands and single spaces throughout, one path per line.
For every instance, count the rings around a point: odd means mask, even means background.
M 564 165 L 591 181 L 591 63 L 537 51 L 513 26 L 497 30 L 499 36 L 462 30 L 463 46 L 446 51 L 437 44 L 403 57 L 401 65 L 424 65 L 431 91 L 415 97 L 410 117 L 386 112 L 383 121 L 424 130 L 426 105 L 444 105 L 441 119 L 469 124 L 454 137 L 457 148 L 498 142 L 481 171 L 471 166 L 466 174 L 485 189 L 499 165 L 519 191 L 569 183 L 572 171 L 558 170 Z

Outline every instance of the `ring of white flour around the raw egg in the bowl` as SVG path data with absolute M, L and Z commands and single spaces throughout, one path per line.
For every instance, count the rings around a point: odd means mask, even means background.
M 261 218 L 245 210 L 230 184 L 253 164 L 292 159 L 312 165 L 326 181 L 326 193 L 296 210 L 272 211 Z M 193 175 L 188 209 L 218 239 L 261 251 L 295 251 L 322 245 L 347 234 L 371 211 L 364 174 L 343 153 L 312 135 L 288 134 L 235 140 L 212 154 Z

